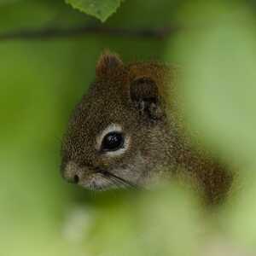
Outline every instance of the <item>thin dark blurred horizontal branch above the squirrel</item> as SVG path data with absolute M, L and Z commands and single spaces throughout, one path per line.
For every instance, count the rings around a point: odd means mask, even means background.
M 46 40 L 55 38 L 84 37 L 90 34 L 119 38 L 168 38 L 178 27 L 162 27 L 152 29 L 111 28 L 105 26 L 77 26 L 72 28 L 43 28 L 17 32 L 0 33 L 0 41 L 7 40 Z

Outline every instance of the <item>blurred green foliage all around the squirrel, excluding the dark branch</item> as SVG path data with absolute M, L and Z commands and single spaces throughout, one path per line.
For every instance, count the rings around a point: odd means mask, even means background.
M 101 19 L 116 7 L 104 7 Z M 102 26 L 183 29 L 166 40 L 90 35 L 0 42 L 0 254 L 218 255 L 212 247 L 220 247 L 219 255 L 254 252 L 254 8 L 249 1 L 130 0 Z M 81 24 L 100 22 L 63 0 L 0 1 L 0 32 Z M 157 59 L 183 67 L 177 97 L 189 129 L 239 170 L 239 186 L 224 206 L 203 210 L 190 190 L 175 183 L 102 195 L 61 180 L 61 136 L 106 48 L 124 61 Z

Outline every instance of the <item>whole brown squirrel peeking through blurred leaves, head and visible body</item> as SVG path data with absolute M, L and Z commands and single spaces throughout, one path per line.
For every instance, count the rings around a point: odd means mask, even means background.
M 229 193 L 231 172 L 184 135 L 177 68 L 148 61 L 125 65 L 104 52 L 96 79 L 76 106 L 61 148 L 61 174 L 92 190 L 144 188 L 189 177 L 211 204 Z

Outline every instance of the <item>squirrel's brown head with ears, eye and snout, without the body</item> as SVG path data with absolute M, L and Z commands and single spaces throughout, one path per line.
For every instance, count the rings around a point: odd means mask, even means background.
M 61 172 L 67 181 L 88 189 L 150 182 L 168 147 L 167 73 L 162 64 L 125 65 L 116 54 L 102 54 L 63 139 Z

